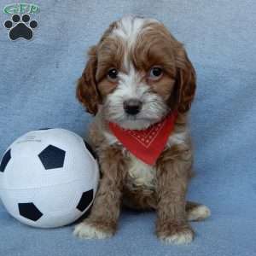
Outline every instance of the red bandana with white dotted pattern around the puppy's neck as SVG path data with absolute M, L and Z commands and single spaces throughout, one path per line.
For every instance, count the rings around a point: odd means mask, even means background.
M 119 142 L 138 159 L 148 165 L 154 165 L 166 147 L 176 119 L 177 112 L 173 112 L 146 130 L 125 130 L 114 123 L 109 123 L 109 128 Z

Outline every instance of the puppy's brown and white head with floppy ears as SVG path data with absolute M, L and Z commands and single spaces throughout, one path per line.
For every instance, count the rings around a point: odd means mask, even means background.
M 147 128 L 177 109 L 186 113 L 195 95 L 195 70 L 159 21 L 125 17 L 113 22 L 89 51 L 77 97 L 89 113 L 125 129 Z

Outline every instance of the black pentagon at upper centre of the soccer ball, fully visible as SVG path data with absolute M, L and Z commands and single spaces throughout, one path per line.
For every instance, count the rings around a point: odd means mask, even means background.
M 64 165 L 66 152 L 61 148 L 49 145 L 47 148 L 38 154 L 44 168 L 46 170 L 61 168 Z

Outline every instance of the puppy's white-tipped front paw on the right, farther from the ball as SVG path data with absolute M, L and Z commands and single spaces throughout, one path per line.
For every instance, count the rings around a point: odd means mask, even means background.
M 193 241 L 194 231 L 189 224 L 157 224 L 156 235 L 166 244 L 188 244 Z

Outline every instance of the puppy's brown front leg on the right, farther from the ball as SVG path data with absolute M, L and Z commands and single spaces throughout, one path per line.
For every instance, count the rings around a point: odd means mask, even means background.
M 192 156 L 189 150 L 166 150 L 157 162 L 156 234 L 166 243 L 189 243 L 194 232 L 187 221 L 185 195 Z

